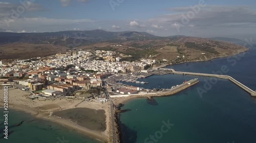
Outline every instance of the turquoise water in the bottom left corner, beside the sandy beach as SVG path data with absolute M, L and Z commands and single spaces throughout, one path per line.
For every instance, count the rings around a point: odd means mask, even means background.
M 0 108 L 0 113 L 3 113 L 3 108 Z M 3 121 L 0 118 L 0 128 L 1 136 L 3 135 L 4 126 Z M 24 113 L 22 111 L 9 110 L 8 117 L 9 131 L 12 133 L 8 136 L 8 139 L 0 138 L 0 142 L 14 143 L 14 142 L 24 142 L 24 143 L 68 143 L 68 142 L 95 142 L 100 141 L 92 139 L 90 137 L 84 136 L 74 130 L 70 130 L 61 125 L 38 120 L 33 118 L 31 115 Z M 15 127 L 15 124 L 23 122 L 22 125 Z

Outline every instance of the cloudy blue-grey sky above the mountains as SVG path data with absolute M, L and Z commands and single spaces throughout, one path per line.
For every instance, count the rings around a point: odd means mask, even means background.
M 0 31 L 256 38 L 255 0 L 0 0 Z

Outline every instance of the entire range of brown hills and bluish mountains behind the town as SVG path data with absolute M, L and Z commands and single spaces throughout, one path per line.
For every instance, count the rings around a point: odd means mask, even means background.
M 219 41 L 221 38 L 215 39 L 218 40 L 186 36 L 158 37 L 145 32 L 102 30 L 0 33 L 0 59 L 28 59 L 70 49 L 104 49 L 132 55 L 123 57 L 123 60 L 127 61 L 147 58 L 179 63 L 205 61 L 247 50 L 246 47 L 238 44 Z M 122 46 L 113 47 L 112 45 Z

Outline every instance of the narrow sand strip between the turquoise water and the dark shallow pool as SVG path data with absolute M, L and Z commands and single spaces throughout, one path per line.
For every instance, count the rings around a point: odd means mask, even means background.
M 0 101 L 0 103 L 3 104 L 4 102 Z M 34 118 L 37 118 L 40 120 L 50 121 L 50 122 L 62 125 L 66 128 L 75 130 L 81 134 L 84 134 L 90 138 L 97 139 L 101 142 L 105 142 L 109 138 L 108 136 L 104 135 L 103 132 L 90 130 L 86 127 L 79 126 L 76 123 L 69 121 L 68 119 L 62 119 L 55 116 L 50 116 L 49 113 L 37 110 L 32 107 L 28 107 L 26 105 L 9 104 L 9 108 L 29 113 Z M 106 122 L 106 124 L 108 123 Z

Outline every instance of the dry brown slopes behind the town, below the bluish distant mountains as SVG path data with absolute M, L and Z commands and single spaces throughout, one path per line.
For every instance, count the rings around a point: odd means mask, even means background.
M 115 46 L 112 45 L 121 45 Z M 214 41 L 197 37 L 177 37 L 173 39 L 131 40 L 120 43 L 95 42 L 88 45 L 74 47 L 83 50 L 115 51 L 122 61 L 137 61 L 139 59 L 174 60 L 183 57 L 180 62 L 204 61 L 212 58 L 230 56 L 247 49 L 236 44 Z M 2 59 L 30 59 L 38 56 L 48 56 L 71 50 L 65 45 L 10 43 L 0 45 L 0 60 Z M 204 54 L 202 54 L 204 53 Z M 129 56 L 131 55 L 131 56 Z

